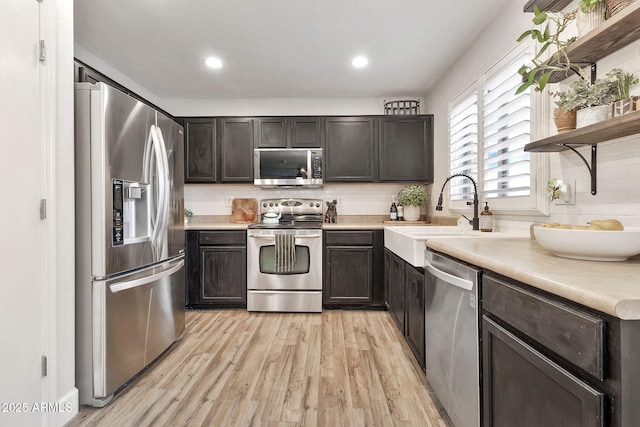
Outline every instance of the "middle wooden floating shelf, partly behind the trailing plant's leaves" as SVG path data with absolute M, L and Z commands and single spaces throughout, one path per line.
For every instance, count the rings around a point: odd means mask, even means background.
M 578 38 L 566 52 L 574 64 L 595 64 L 605 56 L 640 39 L 640 1 L 631 3 L 621 12 L 607 19 L 598 28 Z M 553 64 L 553 61 L 551 62 Z M 558 83 L 568 76 L 554 73 L 550 83 Z

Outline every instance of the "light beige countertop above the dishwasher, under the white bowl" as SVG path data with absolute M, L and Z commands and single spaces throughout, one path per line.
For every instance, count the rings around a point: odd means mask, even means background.
M 582 261 L 555 256 L 528 238 L 434 238 L 428 248 L 623 320 L 640 320 L 640 256 Z

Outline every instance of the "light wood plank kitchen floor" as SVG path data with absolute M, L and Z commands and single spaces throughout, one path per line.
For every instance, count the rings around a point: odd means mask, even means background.
M 188 311 L 181 342 L 68 426 L 449 426 L 385 311 Z

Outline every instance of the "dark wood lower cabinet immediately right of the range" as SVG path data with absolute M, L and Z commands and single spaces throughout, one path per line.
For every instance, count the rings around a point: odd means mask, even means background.
M 323 305 L 382 308 L 382 230 L 328 230 L 324 237 Z

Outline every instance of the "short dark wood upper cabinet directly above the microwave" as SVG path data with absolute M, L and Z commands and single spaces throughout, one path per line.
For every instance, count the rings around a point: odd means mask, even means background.
M 255 127 L 256 148 L 322 147 L 321 117 L 261 117 Z

